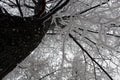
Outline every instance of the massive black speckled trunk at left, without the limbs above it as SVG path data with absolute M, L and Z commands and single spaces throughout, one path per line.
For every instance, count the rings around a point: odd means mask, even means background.
M 41 42 L 51 19 L 34 22 L 17 16 L 0 15 L 0 80 L 24 60 Z

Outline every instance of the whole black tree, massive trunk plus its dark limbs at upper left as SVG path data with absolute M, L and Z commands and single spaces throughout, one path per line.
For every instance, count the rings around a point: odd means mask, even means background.
M 45 0 L 32 0 L 35 5 L 35 14 L 25 17 L 22 7 L 31 7 L 24 5 L 25 1 L 27 0 L 0 1 L 11 8 L 18 8 L 20 13 L 20 16 L 11 15 L 4 7 L 0 7 L 0 79 L 13 70 L 38 46 L 49 29 L 51 15 L 69 2 L 69 0 L 61 0 L 55 7 L 45 12 Z

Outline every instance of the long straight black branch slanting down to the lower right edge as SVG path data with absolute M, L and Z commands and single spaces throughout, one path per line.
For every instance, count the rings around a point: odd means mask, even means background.
M 87 56 L 100 67 L 100 69 L 110 78 L 110 80 L 113 80 L 113 78 L 103 69 L 103 67 L 94 58 L 92 58 L 92 56 L 82 47 L 81 44 L 79 44 L 79 42 L 71 34 L 69 34 L 69 37 L 72 38 L 73 41 L 87 54 Z

